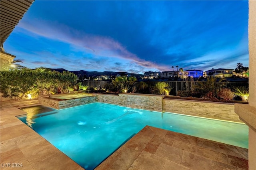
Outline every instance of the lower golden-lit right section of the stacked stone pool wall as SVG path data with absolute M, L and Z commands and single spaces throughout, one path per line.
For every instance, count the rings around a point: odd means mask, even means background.
M 163 111 L 242 123 L 233 103 L 164 99 Z

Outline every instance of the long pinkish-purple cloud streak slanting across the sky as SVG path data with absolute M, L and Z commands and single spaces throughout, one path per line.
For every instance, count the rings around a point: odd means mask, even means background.
M 167 65 L 158 65 L 152 61 L 138 58 L 135 54 L 123 47 L 122 44 L 110 37 L 86 34 L 56 22 L 33 20 L 33 23 L 31 23 L 30 21 L 22 20 L 18 27 L 44 38 L 69 43 L 73 45 L 73 47 L 75 46 L 93 55 L 94 58 L 100 57 L 101 60 L 103 57 L 114 57 L 116 59 L 125 59 L 133 64 L 141 65 L 146 68 L 162 70 L 168 67 Z M 96 64 L 99 64 L 101 61 L 97 62 Z

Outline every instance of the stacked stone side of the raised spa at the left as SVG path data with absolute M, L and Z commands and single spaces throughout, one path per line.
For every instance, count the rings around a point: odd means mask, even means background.
M 88 96 L 88 97 L 67 99 L 67 100 L 56 100 L 48 97 L 48 98 L 42 98 L 40 100 L 40 103 L 42 105 L 46 105 L 55 109 L 65 109 L 68 107 L 74 107 L 74 106 L 79 106 L 79 105 L 84 105 L 84 104 L 94 103 L 94 102 L 97 102 L 96 96 Z

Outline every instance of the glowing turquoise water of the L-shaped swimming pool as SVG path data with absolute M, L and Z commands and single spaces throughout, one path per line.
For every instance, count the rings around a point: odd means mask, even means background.
M 248 148 L 241 123 L 92 103 L 19 118 L 86 170 L 94 169 L 146 125 Z

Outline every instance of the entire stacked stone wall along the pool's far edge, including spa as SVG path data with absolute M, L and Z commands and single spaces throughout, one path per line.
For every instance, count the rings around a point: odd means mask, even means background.
M 165 111 L 184 115 L 242 122 L 240 121 L 239 116 L 234 112 L 233 103 L 164 99 L 163 95 L 134 93 L 120 93 L 118 95 L 96 94 L 96 96 L 61 101 L 54 100 L 52 98 L 41 99 L 42 105 L 53 107 L 55 109 L 64 109 L 97 101 L 136 109 L 159 112 Z

